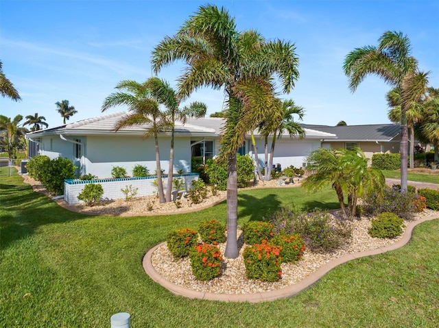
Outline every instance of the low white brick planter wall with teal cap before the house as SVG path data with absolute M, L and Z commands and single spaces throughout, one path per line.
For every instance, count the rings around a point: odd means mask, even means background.
M 184 190 L 189 190 L 192 186 L 192 181 L 198 179 L 200 175 L 198 173 L 187 173 L 174 175 L 174 179 L 181 178 L 185 180 Z M 132 189 L 137 189 L 136 197 L 150 196 L 157 191 L 157 187 L 154 186 L 154 180 L 156 176 L 151 177 L 128 177 L 123 179 L 104 179 L 104 180 L 91 180 L 82 181 L 78 179 L 64 180 L 64 200 L 69 204 L 80 203 L 78 200 L 78 194 L 82 192 L 82 189 L 86 184 L 101 184 L 104 188 L 104 195 L 102 199 L 123 199 L 125 194 L 121 189 L 125 189 L 127 186 L 132 186 Z M 163 188 L 166 192 L 167 178 L 163 177 Z

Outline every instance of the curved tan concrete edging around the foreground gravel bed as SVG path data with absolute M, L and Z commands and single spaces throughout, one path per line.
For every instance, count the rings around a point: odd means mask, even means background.
M 160 283 L 161 286 L 165 287 L 167 290 L 173 292 L 174 294 L 188 297 L 189 299 L 205 299 L 209 301 L 230 301 L 230 302 L 247 301 L 250 303 L 258 303 L 262 301 L 274 301 L 276 299 L 284 299 L 298 294 L 298 292 L 301 292 L 302 290 L 305 290 L 309 286 L 313 285 L 313 283 L 316 283 L 316 281 L 318 281 L 330 270 L 335 268 L 335 266 L 339 266 L 344 262 L 348 262 L 369 255 L 386 253 L 388 251 L 393 251 L 394 249 L 399 249 L 400 247 L 403 247 L 412 238 L 412 232 L 414 227 L 416 227 L 416 225 L 423 223 L 425 221 L 434 220 L 438 217 L 439 214 L 434 214 L 430 216 L 425 216 L 424 218 L 420 218 L 419 220 L 416 221 L 412 221 L 408 223 L 407 227 L 405 228 L 403 237 L 397 242 L 395 242 L 394 244 L 391 244 L 386 247 L 381 247 L 378 249 L 371 249 L 369 251 L 362 251 L 362 252 L 347 254 L 342 257 L 338 257 L 337 259 L 332 260 L 327 264 L 324 264 L 324 266 L 321 266 L 314 273 L 311 273 L 311 275 L 305 277 L 305 279 L 302 279 L 298 283 L 294 283 L 294 285 L 287 286 L 278 290 L 272 290 L 270 292 L 257 292 L 252 294 L 214 294 L 210 292 L 198 292 L 196 290 L 191 290 L 189 288 L 178 286 L 175 283 L 171 283 L 171 281 L 168 281 L 167 279 L 165 279 L 164 277 L 162 277 L 156 272 L 156 270 L 152 266 L 152 261 L 151 261 L 152 253 L 154 253 L 154 251 L 158 247 L 164 244 L 164 242 L 158 244 L 156 247 L 153 247 L 152 249 L 147 251 L 147 253 L 143 257 L 142 264 L 145 273 L 147 273 L 147 275 L 149 275 L 152 280 L 156 281 L 157 283 Z

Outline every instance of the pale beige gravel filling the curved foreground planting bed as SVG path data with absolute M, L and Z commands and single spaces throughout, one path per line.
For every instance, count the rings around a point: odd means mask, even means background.
M 425 210 L 417 214 L 416 219 L 434 213 L 434 211 Z M 224 257 L 225 268 L 223 266 L 224 270 L 222 275 L 211 281 L 199 281 L 195 279 L 191 272 L 189 258 L 185 257 L 180 260 L 174 260 L 167 249 L 166 243 L 158 247 L 152 254 L 152 266 L 159 275 L 168 281 L 191 290 L 219 294 L 250 294 L 254 292 L 268 292 L 270 290 L 278 290 L 290 286 L 304 279 L 337 257 L 370 249 L 378 249 L 394 244 L 394 242 L 401 239 L 401 236 L 393 239 L 370 237 L 368 234 L 370 218 L 354 220 L 352 225 L 353 238 L 350 244 L 347 244 L 333 253 L 313 253 L 305 249 L 305 253 L 296 264 L 282 264 L 282 277 L 276 282 L 250 280 L 246 278 L 246 269 L 242 260 L 245 244 L 241 247 L 239 257 L 236 259 Z M 405 221 L 405 225 L 407 225 L 407 221 Z M 238 236 L 240 234 L 241 231 L 238 231 Z M 226 244 L 219 244 L 219 249 L 224 254 Z

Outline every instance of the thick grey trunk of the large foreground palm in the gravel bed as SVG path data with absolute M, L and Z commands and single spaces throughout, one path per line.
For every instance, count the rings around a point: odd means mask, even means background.
M 227 159 L 227 241 L 224 256 L 235 259 L 239 255 L 237 243 L 238 185 L 236 153 Z

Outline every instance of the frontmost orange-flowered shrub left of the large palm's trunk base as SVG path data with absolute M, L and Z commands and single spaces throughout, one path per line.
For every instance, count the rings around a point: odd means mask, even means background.
M 192 273 L 198 280 L 211 280 L 221 275 L 222 256 L 219 248 L 198 244 L 189 252 Z

